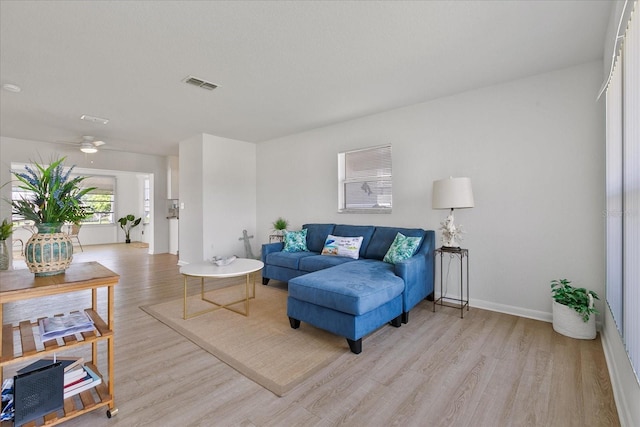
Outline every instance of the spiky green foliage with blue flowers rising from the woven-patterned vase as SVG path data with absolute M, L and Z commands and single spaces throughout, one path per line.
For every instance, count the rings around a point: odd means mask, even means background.
M 20 189 L 26 192 L 20 200 L 12 200 L 13 213 L 36 226 L 42 223 L 79 222 L 91 211 L 82 204 L 82 196 L 95 187 L 82 188 L 87 177 L 71 178 L 74 166 L 65 171 L 65 157 L 54 160 L 49 166 L 34 163 L 25 166 L 25 172 L 14 172 Z

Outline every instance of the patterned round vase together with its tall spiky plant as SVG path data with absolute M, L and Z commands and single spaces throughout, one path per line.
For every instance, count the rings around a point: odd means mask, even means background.
M 73 259 L 73 244 L 62 233 L 65 222 L 76 223 L 86 218 L 90 210 L 82 197 L 95 187 L 82 188 L 83 176 L 71 177 L 74 166 L 65 170 L 65 157 L 53 160 L 49 166 L 34 163 L 25 172 L 12 171 L 24 191 L 20 199 L 12 200 L 13 214 L 33 221 L 38 232 L 25 245 L 27 267 L 36 276 L 63 273 Z

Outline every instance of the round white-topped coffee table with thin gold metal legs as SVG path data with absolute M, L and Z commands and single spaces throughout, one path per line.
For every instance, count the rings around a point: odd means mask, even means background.
M 191 317 L 198 316 L 203 313 L 208 313 L 210 311 L 218 310 L 220 308 L 225 308 L 227 310 L 233 311 L 235 313 L 242 314 L 244 316 L 249 315 L 249 300 L 255 298 L 256 295 L 256 280 L 255 274 L 257 271 L 262 270 L 264 264 L 262 261 L 257 259 L 248 259 L 248 258 L 237 258 L 229 265 L 217 266 L 209 261 L 196 262 L 184 265 L 180 268 L 180 273 L 184 276 L 184 307 L 183 307 L 183 318 L 189 319 Z M 212 278 L 212 279 L 226 279 L 231 277 L 241 277 L 245 276 L 245 293 L 244 298 L 227 302 L 227 303 L 219 303 L 213 300 L 208 299 L 205 296 L 204 292 L 204 279 Z M 251 282 L 251 276 L 253 276 L 253 292 L 249 293 L 249 284 Z M 188 313 L 187 311 L 187 279 L 189 277 L 199 277 L 200 278 L 200 299 L 202 301 L 206 301 L 214 307 L 201 310 L 196 313 Z M 232 286 L 233 284 L 227 284 L 224 287 Z M 231 307 L 234 304 L 238 304 L 244 301 L 244 312 Z

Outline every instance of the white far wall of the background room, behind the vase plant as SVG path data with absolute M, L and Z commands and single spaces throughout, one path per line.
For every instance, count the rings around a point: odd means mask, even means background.
M 145 227 L 145 241 L 149 243 L 150 253 L 165 253 L 169 250 L 169 223 L 166 219 L 167 167 L 166 158 L 144 154 L 123 153 L 101 150 L 97 154 L 85 155 L 69 147 L 65 149 L 57 144 L 0 137 L 0 184 L 9 182 L 11 163 L 46 162 L 55 157 L 66 156 L 66 165 L 76 165 L 75 171 L 87 169 L 99 170 L 117 179 L 116 219 L 126 213 L 136 213 L 141 209 L 138 175 L 152 177 L 152 224 Z M 131 191 L 127 191 L 131 190 Z M 3 199 L 11 199 L 9 185 L 0 189 Z M 126 210 L 123 212 L 121 210 Z M 0 203 L 0 218 L 10 216 L 10 206 Z M 141 211 L 139 212 L 142 213 Z M 142 227 L 136 227 L 132 238 L 141 240 Z M 81 232 L 84 244 L 124 242 L 124 233 L 119 226 L 86 226 Z M 137 233 L 137 234 L 136 234 Z

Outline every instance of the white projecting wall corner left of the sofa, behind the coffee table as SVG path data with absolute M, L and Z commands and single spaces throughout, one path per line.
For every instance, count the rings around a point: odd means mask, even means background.
M 256 229 L 255 144 L 203 134 L 180 143 L 180 262 L 244 257 Z M 256 238 L 250 240 L 258 256 Z

